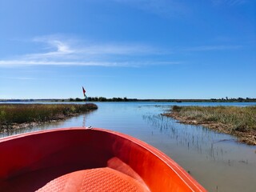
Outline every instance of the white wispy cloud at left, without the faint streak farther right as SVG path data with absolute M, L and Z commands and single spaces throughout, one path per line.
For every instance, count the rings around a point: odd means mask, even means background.
M 64 39 L 57 36 L 34 38 L 32 42 L 41 43 L 43 51 L 0 60 L 0 66 L 143 66 L 163 63 L 145 61 L 147 56 L 163 54 L 152 46 Z

